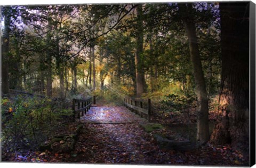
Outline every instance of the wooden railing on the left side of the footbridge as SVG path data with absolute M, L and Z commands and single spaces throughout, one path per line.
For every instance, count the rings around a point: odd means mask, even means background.
M 87 98 L 87 99 L 73 99 L 72 110 L 73 110 L 73 122 L 75 121 L 76 115 L 79 119 L 81 116 L 87 113 L 90 110 L 93 104 L 96 103 L 95 96 Z M 82 112 L 82 114 L 81 114 Z

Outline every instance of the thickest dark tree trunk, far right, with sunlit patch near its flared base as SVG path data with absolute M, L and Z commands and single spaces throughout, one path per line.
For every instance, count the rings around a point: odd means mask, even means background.
M 220 3 L 221 121 L 211 142 L 249 152 L 249 2 Z M 255 113 L 255 111 L 252 111 Z

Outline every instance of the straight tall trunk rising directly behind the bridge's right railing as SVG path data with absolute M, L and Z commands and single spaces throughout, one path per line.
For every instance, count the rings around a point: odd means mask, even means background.
M 144 93 L 144 84 L 145 84 L 145 76 L 143 71 L 143 60 L 142 60 L 142 53 L 143 53 L 143 25 L 142 25 L 142 5 L 137 6 L 137 30 L 136 30 L 136 40 L 137 40 L 137 47 L 135 53 L 135 70 L 136 70 L 136 91 L 137 97 L 140 97 L 142 93 Z

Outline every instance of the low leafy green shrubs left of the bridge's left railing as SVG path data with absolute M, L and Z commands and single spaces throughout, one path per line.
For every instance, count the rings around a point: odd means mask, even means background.
M 2 144 L 10 151 L 37 147 L 72 115 L 71 110 L 62 109 L 48 98 L 19 95 L 14 100 L 3 100 Z

